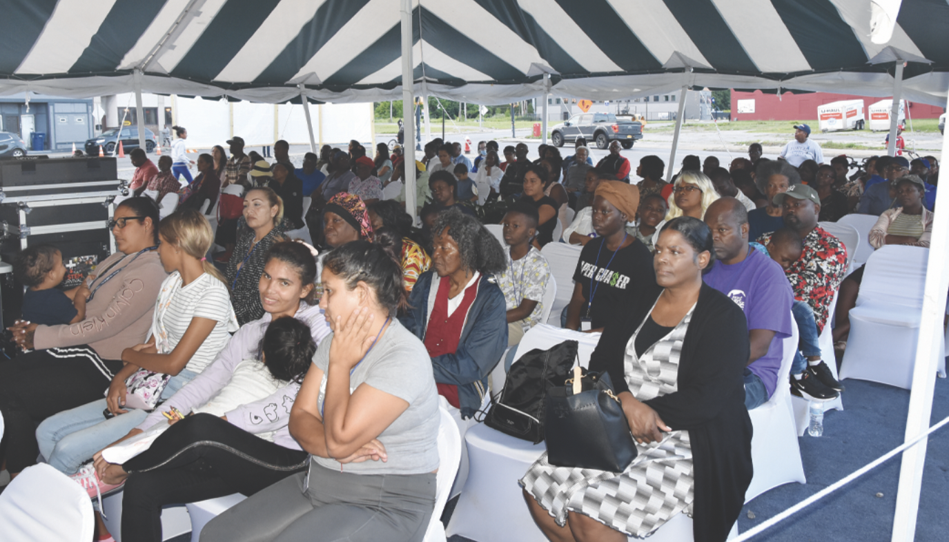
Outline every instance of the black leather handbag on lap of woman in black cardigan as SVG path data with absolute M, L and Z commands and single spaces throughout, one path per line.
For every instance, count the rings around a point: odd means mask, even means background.
M 573 368 L 547 398 L 547 461 L 554 466 L 623 472 L 639 453 L 606 372 Z

